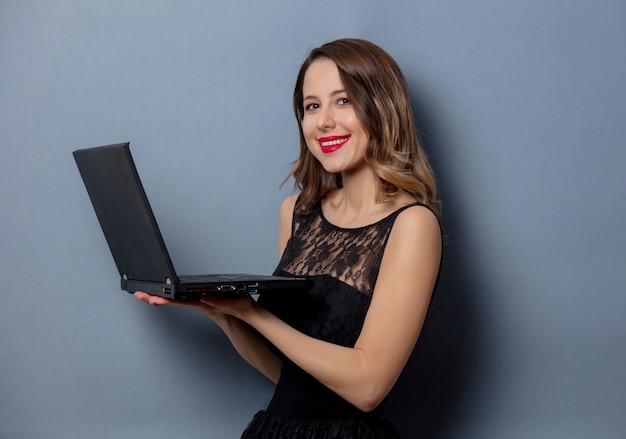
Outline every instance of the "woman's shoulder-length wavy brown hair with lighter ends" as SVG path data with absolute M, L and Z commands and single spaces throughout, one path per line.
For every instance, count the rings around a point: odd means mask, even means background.
M 435 177 L 415 127 L 404 76 L 383 49 L 352 38 L 313 49 L 296 79 L 293 110 L 300 131 L 300 156 L 286 178 L 294 177 L 301 192 L 296 211 L 306 212 L 307 206 L 342 184 L 340 174 L 327 172 L 311 154 L 302 133 L 304 76 L 319 59 L 330 59 L 337 65 L 350 102 L 369 135 L 366 160 L 379 179 L 377 201 L 390 200 L 404 191 L 438 213 Z

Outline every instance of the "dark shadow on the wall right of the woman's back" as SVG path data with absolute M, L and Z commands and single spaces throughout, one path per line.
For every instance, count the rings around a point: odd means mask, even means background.
M 414 87 L 411 87 L 413 90 Z M 415 95 L 414 95 L 415 96 Z M 459 190 L 446 183 L 446 163 L 437 143 L 442 125 L 426 117 L 429 109 L 412 102 L 418 128 L 428 133 L 424 147 L 437 173 L 443 202 L 444 261 L 431 308 L 417 345 L 386 407 L 386 416 L 402 437 L 445 438 L 458 409 L 467 400 L 480 361 L 480 309 L 474 273 L 464 255 L 463 212 L 455 203 Z

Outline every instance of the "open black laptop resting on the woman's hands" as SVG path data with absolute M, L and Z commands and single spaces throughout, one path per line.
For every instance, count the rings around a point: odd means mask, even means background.
M 73 152 L 120 273 L 122 290 L 169 299 L 308 289 L 307 278 L 253 274 L 178 275 L 146 197 L 129 144 Z

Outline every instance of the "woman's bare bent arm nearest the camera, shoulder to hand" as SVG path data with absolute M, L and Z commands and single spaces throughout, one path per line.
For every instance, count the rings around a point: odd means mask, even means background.
M 256 303 L 206 301 L 250 324 L 322 384 L 370 411 L 391 390 L 417 341 L 440 259 L 441 232 L 434 214 L 419 206 L 400 213 L 354 348 L 306 336 Z

